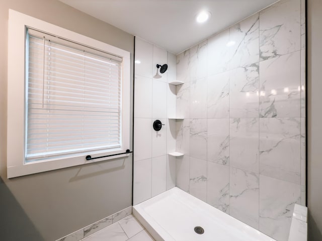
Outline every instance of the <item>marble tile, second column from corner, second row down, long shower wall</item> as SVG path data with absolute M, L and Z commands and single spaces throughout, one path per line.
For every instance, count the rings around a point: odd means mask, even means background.
M 207 81 L 205 78 L 190 84 L 190 118 L 207 118 Z

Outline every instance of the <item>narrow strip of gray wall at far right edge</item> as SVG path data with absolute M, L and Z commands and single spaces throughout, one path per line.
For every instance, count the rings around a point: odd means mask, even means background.
M 310 241 L 322 240 L 322 1 L 307 0 L 307 206 Z

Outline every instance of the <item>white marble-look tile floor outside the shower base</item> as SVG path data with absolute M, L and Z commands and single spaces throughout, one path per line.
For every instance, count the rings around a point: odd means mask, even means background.
M 133 215 L 129 215 L 83 238 L 82 241 L 154 241 L 154 239 Z

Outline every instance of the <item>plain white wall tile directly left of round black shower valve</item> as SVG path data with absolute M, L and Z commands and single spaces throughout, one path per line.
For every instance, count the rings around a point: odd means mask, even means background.
M 134 161 L 152 157 L 152 125 L 150 118 L 134 118 Z

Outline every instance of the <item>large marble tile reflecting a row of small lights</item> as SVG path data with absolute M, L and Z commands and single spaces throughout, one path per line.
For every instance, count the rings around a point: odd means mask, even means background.
M 260 116 L 300 116 L 300 51 L 260 62 Z

